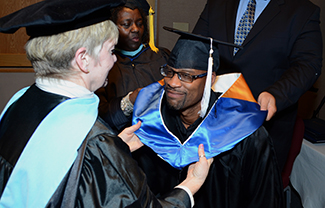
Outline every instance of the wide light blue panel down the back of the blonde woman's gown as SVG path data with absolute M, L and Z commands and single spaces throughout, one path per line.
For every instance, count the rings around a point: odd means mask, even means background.
M 98 103 L 97 96 L 69 99 L 44 118 L 14 167 L 0 207 L 46 206 L 94 125 Z

